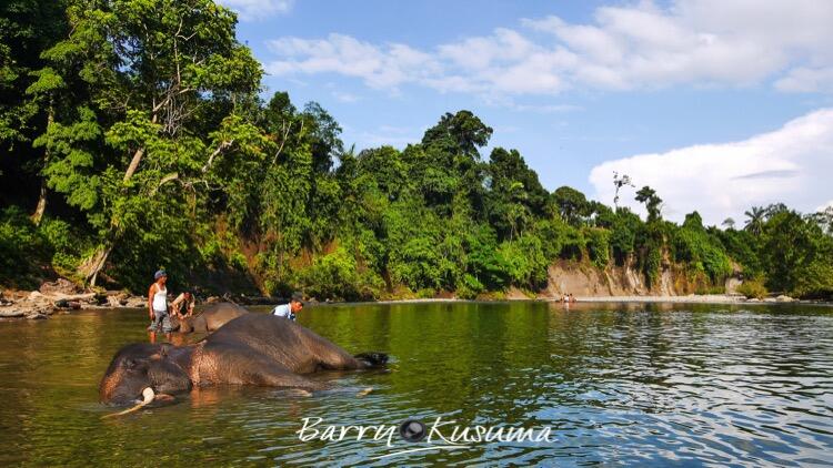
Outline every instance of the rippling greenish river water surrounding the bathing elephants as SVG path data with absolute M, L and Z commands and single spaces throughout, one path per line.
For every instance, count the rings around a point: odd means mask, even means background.
M 202 389 L 173 406 L 102 420 L 98 380 L 144 340 L 137 311 L 0 323 L 0 466 L 833 464 L 833 309 L 781 306 L 398 304 L 328 306 L 300 322 L 390 372 L 323 376 L 300 397 Z M 357 393 L 372 387 L 365 397 Z M 550 442 L 377 458 L 423 448 L 301 441 L 321 425 L 552 428 Z M 451 436 L 451 429 L 443 434 Z

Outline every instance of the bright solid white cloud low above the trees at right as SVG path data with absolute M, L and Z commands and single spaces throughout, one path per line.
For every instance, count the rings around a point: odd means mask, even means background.
M 752 205 L 775 202 L 815 211 L 831 194 L 833 109 L 743 141 L 608 161 L 590 173 L 596 200 L 612 203 L 614 171 L 630 175 L 636 187 L 656 190 L 665 202 L 663 214 L 675 221 L 696 210 L 707 223 L 720 224 Z M 620 205 L 644 214 L 633 190 L 621 193 Z

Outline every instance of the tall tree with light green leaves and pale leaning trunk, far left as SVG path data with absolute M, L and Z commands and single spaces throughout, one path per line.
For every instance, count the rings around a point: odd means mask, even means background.
M 255 92 L 261 70 L 234 37 L 234 13 L 210 0 L 78 0 L 68 18 L 72 32 L 44 58 L 64 81 L 83 82 L 102 143 L 113 150 L 86 166 L 102 183 L 101 202 L 87 210 L 101 244 L 79 268 L 94 284 L 122 234 L 140 228 L 149 195 L 174 181 L 195 187 L 237 144 L 209 146 L 192 135 L 210 132 L 239 95 Z

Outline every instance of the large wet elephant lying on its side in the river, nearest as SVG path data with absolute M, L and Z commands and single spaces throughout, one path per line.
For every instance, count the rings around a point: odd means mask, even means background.
M 297 323 L 271 315 L 243 314 L 205 339 L 188 346 L 132 344 L 113 357 L 99 385 L 102 403 L 133 409 L 193 386 L 233 384 L 324 388 L 304 375 L 382 366 L 388 355 L 351 356 Z

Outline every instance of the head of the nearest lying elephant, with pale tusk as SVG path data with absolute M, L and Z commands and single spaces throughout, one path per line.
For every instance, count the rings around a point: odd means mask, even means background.
M 99 386 L 102 403 L 147 405 L 160 395 L 191 390 L 188 374 L 169 356 L 171 345 L 133 344 L 116 354 Z

